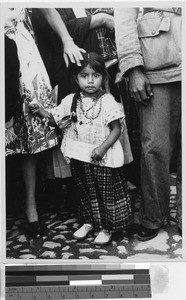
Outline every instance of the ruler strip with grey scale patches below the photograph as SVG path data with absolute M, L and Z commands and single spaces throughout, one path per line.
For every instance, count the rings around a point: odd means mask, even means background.
M 6 300 L 150 298 L 149 269 L 132 266 L 7 266 Z

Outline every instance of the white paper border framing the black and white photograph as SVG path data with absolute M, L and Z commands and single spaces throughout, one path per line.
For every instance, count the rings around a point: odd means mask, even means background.
M 170 3 L 171 2 L 171 3 Z M 1 90 L 0 90 L 0 94 L 1 94 L 1 99 L 4 99 L 4 38 L 3 38 L 3 7 L 4 6 L 11 6 L 11 7 L 16 7 L 16 6 L 22 6 L 22 7 L 26 7 L 26 8 L 32 8 L 32 7 L 73 7 L 76 5 L 82 5 L 82 7 L 95 7 L 95 5 L 97 6 L 99 3 L 100 7 L 147 7 L 149 6 L 149 4 L 153 3 L 153 6 L 157 6 L 161 4 L 161 6 L 167 6 L 168 5 L 172 5 L 174 2 L 174 6 L 175 7 L 182 7 L 183 10 L 183 21 L 184 21 L 184 25 L 183 25 L 183 52 L 182 52 L 182 59 L 183 59 L 183 82 L 182 82 L 182 99 L 184 99 L 185 97 L 185 78 L 186 78 L 186 74 L 185 74 L 185 1 L 112 1 L 112 2 L 107 2 L 107 1 L 91 1 L 91 2 L 87 2 L 87 1 L 74 1 L 74 2 L 67 2 L 67 1 L 55 1 L 55 2 L 51 2 L 51 1 L 1 1 L 0 4 L 0 8 L 1 8 L 1 30 L 0 30 L 0 34 L 1 34 L 1 65 L 3 66 L 0 70 L 1 72 Z M 170 4 L 169 4 L 170 3 Z M 29 263 L 29 264 L 35 264 L 35 263 L 40 263 L 40 264 L 49 264 L 49 263 L 68 263 L 68 264 L 81 264 L 81 263 L 87 263 L 87 261 L 83 261 L 83 260 L 76 260 L 76 259 L 7 259 L 6 258 L 6 207 L 5 207 L 5 159 L 4 159 L 4 144 L 5 144 L 5 138 L 4 138 L 4 111 L 5 111 L 5 107 L 4 107 L 4 101 L 1 100 L 1 110 L 0 110 L 0 117 L 1 117 L 1 126 L 0 126 L 0 134 L 1 134 L 1 157 L 0 157 L 0 167 L 1 167 L 1 240 L 2 240 L 2 248 L 1 248 L 1 252 L 2 252 L 2 262 L 3 263 L 7 263 L 7 264 L 21 264 L 21 263 Z M 185 103 L 184 101 L 182 101 L 182 116 L 184 116 L 184 112 L 185 112 Z M 186 128 L 186 119 L 182 119 L 182 132 L 184 133 L 184 128 Z M 185 153 L 185 143 L 184 143 L 184 139 L 183 139 L 183 135 L 182 135 L 182 141 L 183 141 L 183 145 L 182 145 L 182 153 Z M 185 166 L 185 156 L 183 155 L 183 159 L 182 159 L 182 166 Z M 185 195 L 185 169 L 182 168 L 182 175 L 183 175 L 183 199 L 184 199 L 184 195 Z M 184 216 L 186 212 L 186 203 L 184 203 L 183 200 L 183 212 L 182 215 Z M 185 261 L 186 260 L 186 244 L 185 244 L 185 219 L 183 218 L 183 259 L 181 261 Z M 143 261 L 143 260 L 142 260 Z M 142 262 L 141 260 L 135 260 L 135 262 Z M 168 262 L 175 262 L 175 259 L 168 259 Z M 102 263 L 100 260 L 94 260 L 91 259 L 90 263 Z M 111 263 L 111 260 L 107 261 L 104 260 L 103 263 Z M 115 261 L 114 261 L 115 262 Z M 121 260 L 121 262 L 125 262 L 125 260 Z M 127 263 L 132 263 L 134 262 L 133 260 L 127 260 Z M 179 263 L 179 262 L 178 262 Z

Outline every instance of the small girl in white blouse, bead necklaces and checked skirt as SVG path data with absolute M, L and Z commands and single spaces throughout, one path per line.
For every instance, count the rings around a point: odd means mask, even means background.
M 64 130 L 61 150 L 70 160 L 80 195 L 82 227 L 73 236 L 84 239 L 96 230 L 99 233 L 94 243 L 104 245 L 111 240 L 112 232 L 132 222 L 119 141 L 124 114 L 104 90 L 108 76 L 100 55 L 84 54 L 82 66 L 76 66 L 75 81 L 80 92 L 68 95 L 58 107 L 50 112 L 38 106 L 31 109 Z

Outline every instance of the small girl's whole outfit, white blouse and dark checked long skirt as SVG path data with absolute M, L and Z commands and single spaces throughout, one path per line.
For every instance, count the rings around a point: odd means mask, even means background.
M 51 110 L 57 125 L 63 129 L 71 112 L 74 94 L 65 97 Z M 92 223 L 96 230 L 112 232 L 125 229 L 133 222 L 131 199 L 124 176 L 124 153 L 119 139 L 109 148 L 102 161 L 93 162 L 91 153 L 110 134 L 109 124 L 124 113 L 111 94 L 94 100 L 81 97 L 77 101 L 77 122 L 64 129 L 61 150 L 70 159 L 71 172 L 80 201 L 80 223 Z

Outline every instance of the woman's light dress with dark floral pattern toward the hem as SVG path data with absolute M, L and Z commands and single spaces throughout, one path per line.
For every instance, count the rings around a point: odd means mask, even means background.
M 46 109 L 56 106 L 49 77 L 27 10 L 20 8 L 17 17 L 6 22 L 4 30 L 7 37 L 15 41 L 20 61 L 20 103 L 13 118 L 6 123 L 6 155 L 38 153 L 58 143 L 55 129 L 44 119 L 32 115 L 28 106 L 31 102 L 40 102 Z

